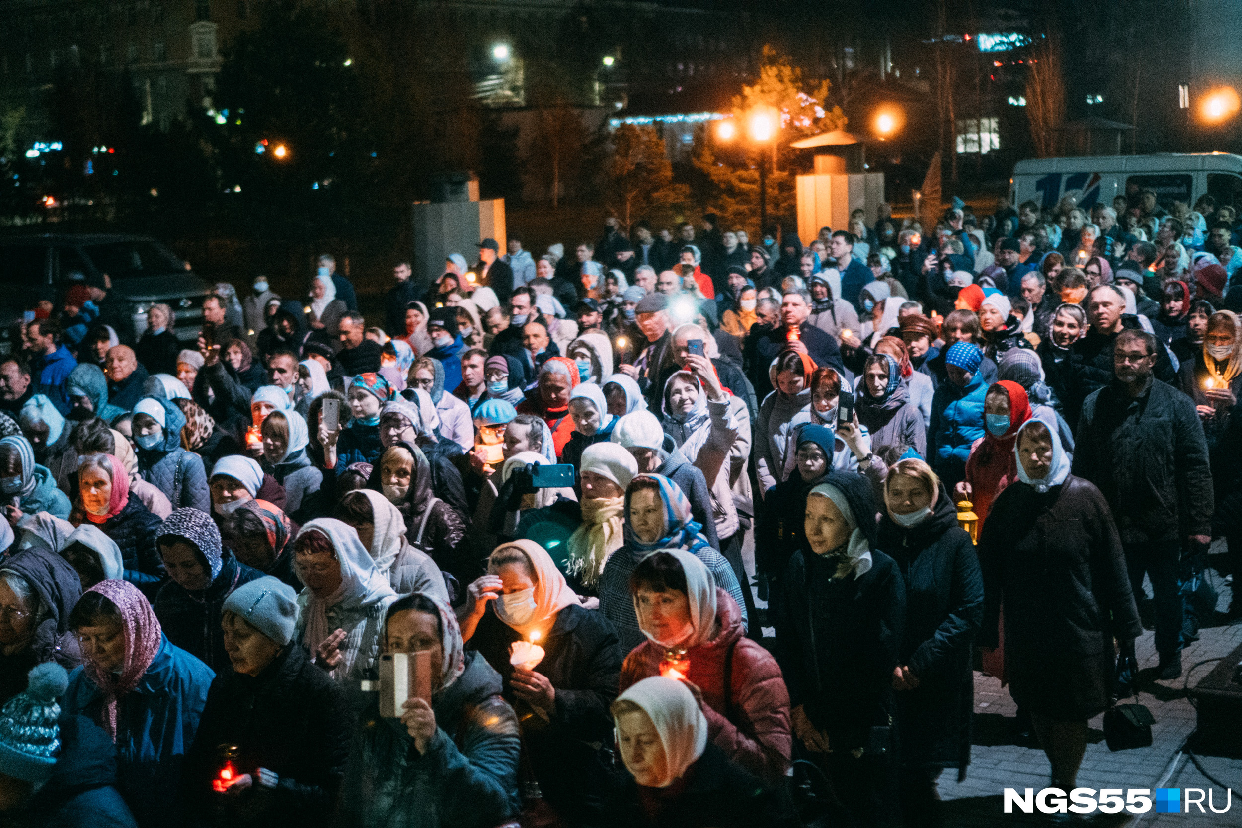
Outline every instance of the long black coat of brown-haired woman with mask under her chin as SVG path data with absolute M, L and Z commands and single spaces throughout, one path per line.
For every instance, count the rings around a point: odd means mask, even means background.
M 919 679 L 897 693 L 902 763 L 958 767 L 970 763 L 970 720 L 975 708 L 971 647 L 984 618 L 984 576 L 975 545 L 958 525 L 958 510 L 941 487 L 935 509 L 905 529 L 887 511 L 879 546 L 905 581 L 905 634 L 898 663 Z

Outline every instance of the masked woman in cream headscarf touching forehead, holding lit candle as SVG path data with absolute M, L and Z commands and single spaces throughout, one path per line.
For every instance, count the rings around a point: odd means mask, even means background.
M 609 705 L 622 659 L 612 624 L 579 605 L 544 547 L 529 540 L 498 546 L 468 595 L 467 652 L 501 674 L 544 799 L 566 823 L 597 824 L 609 777 L 592 742 L 611 740 Z M 543 659 L 513 664 L 519 642 L 538 642 Z

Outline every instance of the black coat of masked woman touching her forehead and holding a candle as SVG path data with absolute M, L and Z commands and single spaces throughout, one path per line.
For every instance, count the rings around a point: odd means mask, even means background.
M 520 638 L 489 607 L 466 642 L 501 674 L 504 700 L 514 705 L 519 718 L 529 708 L 509 688 L 509 644 Z M 539 726 L 543 720 L 538 715 L 522 722 L 530 766 L 553 808 L 571 822 L 597 824 L 606 777 L 597 751 L 587 742 L 612 741 L 609 705 L 617 696 L 625 654 L 604 613 L 574 606 L 558 613 L 539 644 L 545 655 L 535 672 L 556 688 L 556 713 L 546 726 Z

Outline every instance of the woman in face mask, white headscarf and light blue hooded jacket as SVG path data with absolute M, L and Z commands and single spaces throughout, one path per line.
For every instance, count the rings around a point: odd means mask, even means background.
M 169 400 L 143 397 L 134 406 L 134 442 L 143 479 L 168 493 L 176 506 L 209 511 L 207 473 L 202 458 L 181 448 L 185 415 Z

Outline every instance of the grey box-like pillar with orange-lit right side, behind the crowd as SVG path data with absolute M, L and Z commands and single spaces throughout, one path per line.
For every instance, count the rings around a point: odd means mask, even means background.
M 427 287 L 443 276 L 450 253 L 461 253 L 473 266 L 484 238 L 494 238 L 504 254 L 504 199 L 479 200 L 478 176 L 468 171 L 436 176 L 431 192 L 432 201 L 416 201 L 410 209 L 416 284 Z

